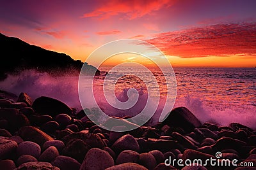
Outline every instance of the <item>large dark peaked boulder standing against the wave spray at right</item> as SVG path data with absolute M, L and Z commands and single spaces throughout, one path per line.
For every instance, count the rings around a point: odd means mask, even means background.
M 187 108 L 179 107 L 173 109 L 168 117 L 163 121 L 170 127 L 181 127 L 186 132 L 191 132 L 196 127 L 200 127 L 200 121 Z

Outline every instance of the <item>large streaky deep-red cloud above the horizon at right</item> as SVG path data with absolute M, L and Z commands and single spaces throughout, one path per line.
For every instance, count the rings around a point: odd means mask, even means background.
M 168 55 L 180 57 L 227 56 L 236 53 L 256 54 L 256 23 L 216 24 L 182 31 L 163 32 L 148 43 Z

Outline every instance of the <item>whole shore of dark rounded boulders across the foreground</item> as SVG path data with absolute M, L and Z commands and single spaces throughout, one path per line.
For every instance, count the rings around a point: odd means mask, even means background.
M 3 94 L 0 169 L 256 169 L 256 132 L 245 125 L 201 124 L 180 107 L 157 125 L 113 132 L 56 99 L 42 96 L 32 101 L 21 93 L 14 100 L 12 94 Z M 218 159 L 216 153 L 221 154 Z M 164 164 L 174 159 L 236 159 L 237 166 Z M 252 162 L 251 167 L 242 167 L 244 162 Z

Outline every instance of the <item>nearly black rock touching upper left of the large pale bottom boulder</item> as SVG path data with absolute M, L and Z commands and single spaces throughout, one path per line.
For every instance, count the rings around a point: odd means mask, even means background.
M 90 148 L 91 146 L 84 143 L 81 139 L 74 139 L 67 143 L 65 148 L 63 148 L 62 153 L 63 155 L 72 157 L 81 163 Z

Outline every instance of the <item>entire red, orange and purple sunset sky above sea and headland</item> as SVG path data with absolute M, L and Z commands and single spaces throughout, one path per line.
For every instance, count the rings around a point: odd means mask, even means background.
M 255 67 L 255 8 L 253 0 L 3 0 L 0 32 L 82 61 L 110 41 L 141 39 L 174 67 Z

